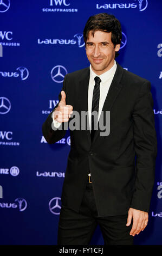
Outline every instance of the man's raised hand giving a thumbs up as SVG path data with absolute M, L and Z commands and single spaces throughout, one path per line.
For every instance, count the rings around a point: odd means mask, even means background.
M 73 106 L 66 105 L 66 93 L 61 91 L 61 101 L 59 102 L 58 107 L 56 107 L 54 111 L 54 119 L 59 122 L 67 122 L 69 121 L 70 114 L 73 113 Z

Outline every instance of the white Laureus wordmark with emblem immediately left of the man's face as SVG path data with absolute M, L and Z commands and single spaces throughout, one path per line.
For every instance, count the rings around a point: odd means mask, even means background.
M 38 39 L 38 44 L 51 44 L 51 45 L 75 45 L 77 44 L 79 48 L 85 46 L 83 41 L 83 34 L 75 34 L 75 39 Z

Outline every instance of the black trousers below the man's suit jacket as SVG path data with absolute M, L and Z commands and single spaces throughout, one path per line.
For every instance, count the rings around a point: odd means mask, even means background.
M 105 245 L 133 245 L 133 236 L 129 235 L 132 223 L 126 226 L 127 216 L 98 217 L 93 185 L 87 179 L 79 213 L 61 207 L 57 245 L 89 245 L 98 224 Z

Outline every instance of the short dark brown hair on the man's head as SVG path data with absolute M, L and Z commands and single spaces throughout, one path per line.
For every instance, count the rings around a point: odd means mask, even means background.
M 112 32 L 112 43 L 114 48 L 117 44 L 121 44 L 121 24 L 118 19 L 115 18 L 114 15 L 107 13 L 100 13 L 94 16 L 90 16 L 86 26 L 83 30 L 83 38 L 86 43 L 88 39 L 89 32 L 92 31 L 92 35 L 94 36 L 95 31 L 104 31 L 104 32 Z M 115 52 L 115 57 L 119 55 L 118 52 Z

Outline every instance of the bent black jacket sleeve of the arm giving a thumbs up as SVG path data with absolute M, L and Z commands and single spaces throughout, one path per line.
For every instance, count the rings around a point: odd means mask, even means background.
M 66 93 L 66 78 L 67 78 L 67 75 L 64 77 L 63 87 L 61 89 L 61 91 L 64 90 L 65 93 Z M 61 92 L 59 94 L 59 102 L 60 101 L 61 101 Z M 43 136 L 46 139 L 46 141 L 50 144 L 60 141 L 60 139 L 62 139 L 64 135 L 66 135 L 68 122 L 63 122 L 58 128 L 54 126 L 54 123 L 53 123 L 53 112 L 55 111 L 55 108 L 58 105 L 59 103 L 57 103 L 53 111 L 48 115 L 46 121 L 43 123 L 43 126 L 42 126 Z

